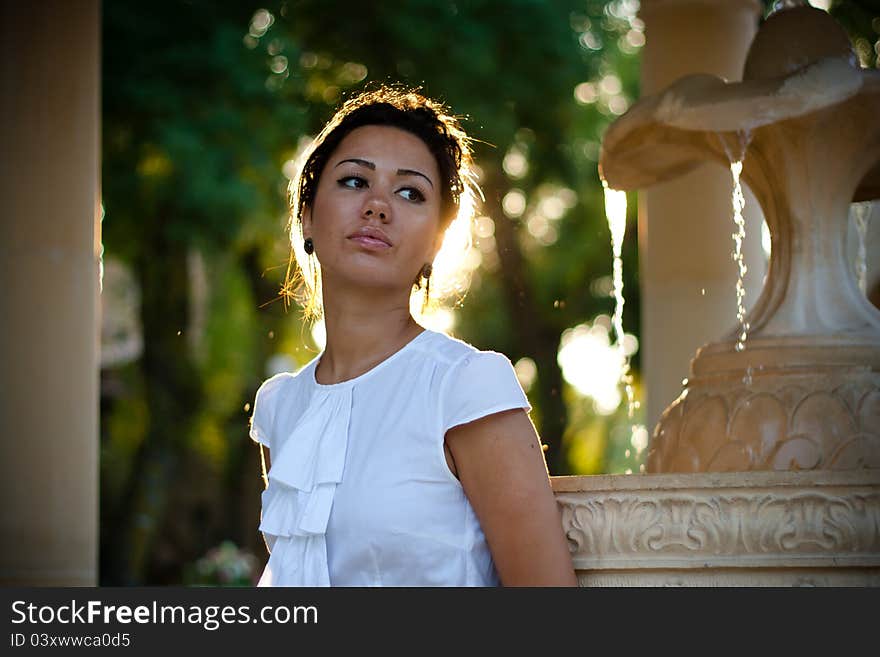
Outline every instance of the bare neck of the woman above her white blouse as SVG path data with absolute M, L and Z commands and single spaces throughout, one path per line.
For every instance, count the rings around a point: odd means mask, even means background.
M 402 349 L 424 329 L 409 312 L 409 300 L 324 294 L 327 346 L 315 371 L 318 383 L 348 381 Z

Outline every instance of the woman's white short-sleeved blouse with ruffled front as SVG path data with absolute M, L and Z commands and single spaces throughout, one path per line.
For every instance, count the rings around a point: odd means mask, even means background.
M 423 331 L 366 373 L 322 385 L 320 356 L 257 391 L 250 436 L 270 449 L 259 586 L 495 586 L 446 432 L 531 410 L 510 361 Z

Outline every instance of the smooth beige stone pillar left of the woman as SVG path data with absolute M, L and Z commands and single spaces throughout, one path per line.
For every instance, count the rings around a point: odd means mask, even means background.
M 0 4 L 0 584 L 97 584 L 100 4 Z

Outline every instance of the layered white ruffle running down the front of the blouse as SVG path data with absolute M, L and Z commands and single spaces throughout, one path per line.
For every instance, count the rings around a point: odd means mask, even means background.
M 273 449 L 260 521 L 270 556 L 259 586 L 330 585 L 327 522 L 345 466 L 352 388 L 313 395 L 309 412 Z

